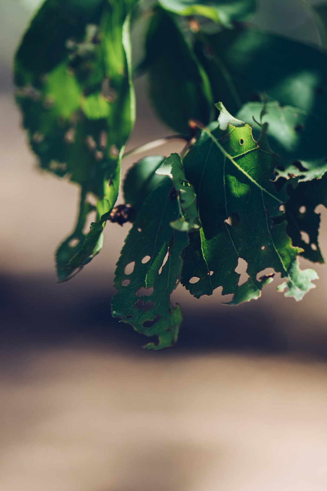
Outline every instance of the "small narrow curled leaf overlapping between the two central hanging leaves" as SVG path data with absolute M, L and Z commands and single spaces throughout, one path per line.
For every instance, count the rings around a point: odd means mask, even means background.
M 201 227 L 197 210 L 197 197 L 192 184 L 185 178 L 184 167 L 177 153 L 168 157 L 155 171 L 161 176 L 171 178 L 179 206 L 180 218 L 171 222 L 171 226 L 181 232 L 198 230 Z

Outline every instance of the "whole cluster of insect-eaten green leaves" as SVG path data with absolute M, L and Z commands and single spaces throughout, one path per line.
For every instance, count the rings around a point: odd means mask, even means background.
M 301 300 L 317 274 L 302 271 L 298 256 L 324 261 L 315 208 L 327 206 L 327 53 L 245 25 L 255 8 L 46 0 L 15 58 L 16 100 L 41 168 L 80 187 L 75 228 L 56 252 L 58 279 L 100 251 L 107 220 L 132 221 L 112 314 L 157 336 L 150 349 L 176 342 L 178 282 L 197 298 L 222 286 L 237 304 L 257 299 L 273 268 L 284 280 L 278 290 Z M 142 15 L 150 21 L 135 72 L 147 74 L 156 113 L 188 142 L 181 155 L 134 164 L 126 209 L 115 211 L 135 115 L 130 20 Z M 316 19 L 324 34 L 325 8 Z

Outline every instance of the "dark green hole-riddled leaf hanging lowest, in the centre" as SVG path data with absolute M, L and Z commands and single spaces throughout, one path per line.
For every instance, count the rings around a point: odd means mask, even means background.
M 117 263 L 117 293 L 111 302 L 114 317 L 146 336 L 158 336 L 158 344 L 145 346 L 154 350 L 176 342 L 182 320 L 180 307 L 173 307 L 170 295 L 180 279 L 180 254 L 188 245 L 188 235 L 170 226 L 179 218 L 171 190 L 171 180 L 161 179 L 145 199 Z M 128 271 L 131 266 L 132 272 Z

